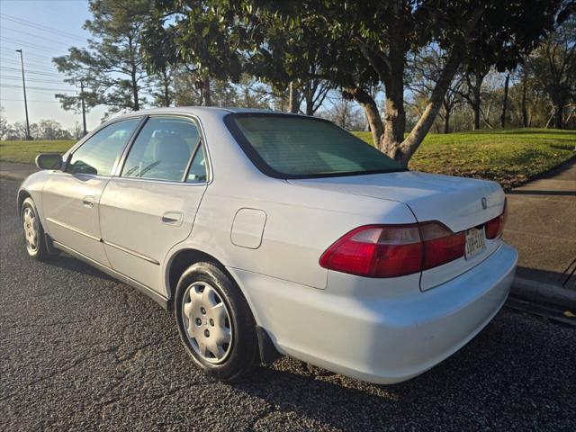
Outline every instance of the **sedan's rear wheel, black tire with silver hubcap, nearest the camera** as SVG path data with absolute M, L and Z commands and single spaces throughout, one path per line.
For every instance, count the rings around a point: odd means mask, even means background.
M 206 374 L 233 381 L 257 365 L 254 317 L 238 285 L 217 266 L 188 267 L 176 287 L 174 313 L 186 352 Z

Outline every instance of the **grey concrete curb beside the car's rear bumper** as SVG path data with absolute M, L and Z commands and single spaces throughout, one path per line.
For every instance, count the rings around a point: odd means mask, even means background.
M 528 302 L 549 304 L 576 313 L 576 290 L 571 288 L 517 276 L 511 293 Z

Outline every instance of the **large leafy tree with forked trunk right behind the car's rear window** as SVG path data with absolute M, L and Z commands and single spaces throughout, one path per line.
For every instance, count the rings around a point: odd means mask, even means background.
M 237 4 L 238 2 L 224 2 Z M 242 2 L 253 14 L 274 8 L 283 14 L 292 30 L 307 25 L 309 34 L 328 34 L 320 68 L 334 85 L 365 109 L 374 144 L 391 157 L 408 163 L 419 147 L 459 67 L 465 71 L 479 65 L 495 65 L 500 70 L 514 67 L 518 57 L 536 46 L 554 28 L 560 1 L 508 0 L 409 0 L 340 2 L 303 0 L 299 2 Z M 255 7 L 255 4 L 265 6 Z M 245 11 L 243 11 L 244 13 Z M 318 20 L 303 19 L 318 17 Z M 327 33 L 319 31 L 328 29 Z M 408 137 L 404 138 L 404 72 L 409 52 L 429 44 L 446 54 L 444 67 L 430 94 L 424 112 Z M 385 87 L 383 121 L 365 88 L 371 79 Z

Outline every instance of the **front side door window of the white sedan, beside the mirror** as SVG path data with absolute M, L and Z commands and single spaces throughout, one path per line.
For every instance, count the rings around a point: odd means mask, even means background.
M 72 154 L 67 172 L 110 175 L 116 158 L 130 139 L 139 121 L 139 118 L 116 121 L 98 130 Z

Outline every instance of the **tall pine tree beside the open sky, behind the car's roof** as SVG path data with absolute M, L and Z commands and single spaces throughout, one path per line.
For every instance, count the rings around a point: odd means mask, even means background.
M 99 104 L 111 112 L 129 109 L 138 111 L 145 98 L 141 83 L 148 74 L 140 55 L 142 23 L 149 13 L 148 0 L 91 0 L 92 20 L 84 28 L 93 38 L 88 48 L 70 48 L 66 56 L 53 58 L 58 71 L 67 75 L 65 81 L 85 85 L 88 108 Z M 57 94 L 65 110 L 79 110 L 79 98 Z

